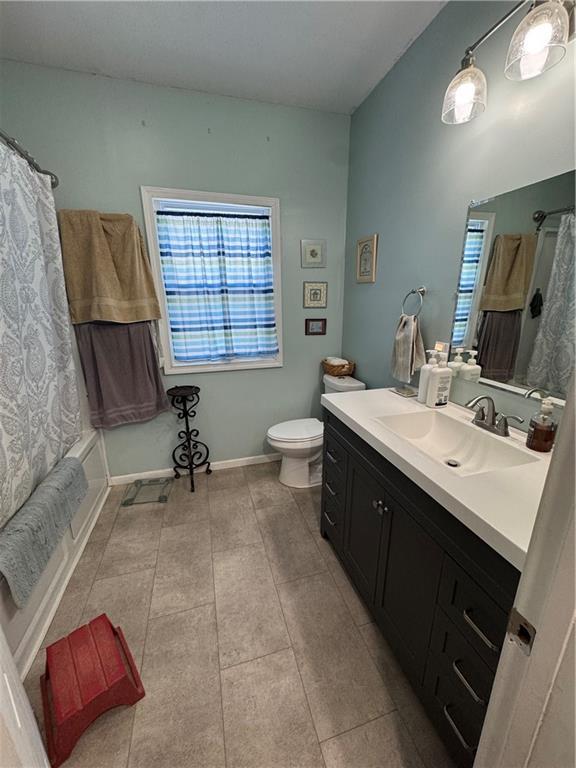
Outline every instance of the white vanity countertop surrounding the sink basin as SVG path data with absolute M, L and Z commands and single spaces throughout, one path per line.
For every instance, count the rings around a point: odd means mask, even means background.
M 538 504 L 550 464 L 550 453 L 529 451 L 538 461 L 465 477 L 415 448 L 374 417 L 428 409 L 416 398 L 404 398 L 390 389 L 370 389 L 322 395 L 322 405 L 365 440 L 422 490 L 451 512 L 496 552 L 522 570 Z M 470 410 L 450 403 L 438 409 L 461 421 L 471 421 Z M 526 435 L 511 429 L 513 441 L 525 447 Z

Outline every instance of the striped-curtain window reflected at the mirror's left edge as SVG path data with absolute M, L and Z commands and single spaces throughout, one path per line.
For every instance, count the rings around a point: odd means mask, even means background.
M 480 288 L 484 283 L 492 239 L 493 213 L 471 213 L 456 292 L 452 347 L 472 347 L 476 335 Z

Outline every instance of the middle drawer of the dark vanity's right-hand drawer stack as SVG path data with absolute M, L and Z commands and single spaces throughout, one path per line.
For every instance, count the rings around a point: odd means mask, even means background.
M 494 672 L 485 664 L 470 643 L 446 616 L 436 607 L 430 651 L 436 658 L 442 673 L 451 678 L 455 686 L 461 686 L 469 699 L 471 710 L 481 728 L 490 699 Z

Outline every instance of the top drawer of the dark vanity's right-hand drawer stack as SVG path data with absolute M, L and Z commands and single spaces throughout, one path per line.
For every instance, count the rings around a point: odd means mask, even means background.
M 474 650 L 495 670 L 508 616 L 450 557 L 444 560 L 438 602 Z

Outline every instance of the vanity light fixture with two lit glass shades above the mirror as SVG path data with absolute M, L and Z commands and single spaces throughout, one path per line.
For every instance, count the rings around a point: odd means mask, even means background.
M 474 52 L 519 10 L 531 9 L 518 25 L 506 59 L 505 74 L 510 80 L 528 80 L 542 74 L 564 58 L 570 37 L 570 10 L 574 0 L 521 0 L 469 48 L 462 66 L 448 86 L 442 104 L 442 122 L 468 123 L 484 112 L 487 101 L 486 77 L 476 66 Z

